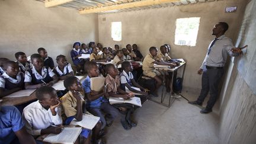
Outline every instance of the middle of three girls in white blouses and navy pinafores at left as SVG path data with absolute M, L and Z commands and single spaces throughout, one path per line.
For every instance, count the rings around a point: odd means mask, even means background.
M 40 88 L 43 85 L 52 87 L 58 81 L 52 69 L 43 66 L 43 58 L 39 54 L 31 55 L 31 62 L 34 67 L 25 72 L 25 89 Z

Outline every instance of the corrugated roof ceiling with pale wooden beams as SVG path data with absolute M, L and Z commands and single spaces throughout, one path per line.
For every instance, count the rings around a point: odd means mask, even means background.
M 114 13 L 137 11 L 150 8 L 172 7 L 175 5 L 198 4 L 215 0 L 36 0 L 44 2 L 45 7 L 67 7 L 78 10 L 79 14 Z

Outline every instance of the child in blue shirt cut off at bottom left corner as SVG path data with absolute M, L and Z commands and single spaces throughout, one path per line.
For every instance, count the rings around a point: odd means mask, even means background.
M 14 106 L 2 106 L 0 100 L 0 143 L 36 144 L 28 134 L 20 111 Z

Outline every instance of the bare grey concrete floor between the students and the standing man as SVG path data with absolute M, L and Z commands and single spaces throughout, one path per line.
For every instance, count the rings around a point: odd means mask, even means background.
M 183 94 L 188 100 L 197 96 Z M 219 117 L 215 113 L 200 114 L 200 108 L 180 98 L 170 108 L 146 101 L 136 110 L 137 127 L 124 130 L 117 118 L 108 127 L 107 143 L 219 143 Z

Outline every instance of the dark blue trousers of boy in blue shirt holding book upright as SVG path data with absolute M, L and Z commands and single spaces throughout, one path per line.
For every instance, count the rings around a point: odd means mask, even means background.
M 94 116 L 100 117 L 101 129 L 104 129 L 106 119 L 108 123 L 112 123 L 114 118 L 119 115 L 119 111 L 108 102 L 101 103 L 100 107 L 88 107 L 87 110 Z

